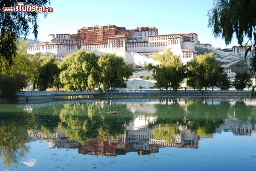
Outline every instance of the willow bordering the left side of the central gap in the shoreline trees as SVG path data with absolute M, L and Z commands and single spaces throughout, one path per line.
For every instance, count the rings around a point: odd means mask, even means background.
M 115 54 L 100 54 L 98 60 L 100 68 L 100 82 L 103 84 L 103 90 L 125 88 L 126 82 L 132 76 L 132 70 L 124 62 L 123 57 Z

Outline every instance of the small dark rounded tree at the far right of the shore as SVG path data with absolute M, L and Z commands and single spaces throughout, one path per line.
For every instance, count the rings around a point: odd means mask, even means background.
M 243 90 L 246 86 L 248 86 L 248 88 L 249 88 L 251 86 L 250 74 L 248 74 L 246 72 L 237 73 L 235 76 L 235 80 L 233 82 L 233 86 L 239 90 Z

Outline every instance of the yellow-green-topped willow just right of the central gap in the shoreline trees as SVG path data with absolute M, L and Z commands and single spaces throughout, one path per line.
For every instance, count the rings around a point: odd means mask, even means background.
M 160 64 L 149 64 L 148 69 L 153 70 L 153 76 L 156 80 L 156 87 L 172 87 L 175 91 L 180 87 L 185 78 L 185 66 L 180 61 L 180 56 L 174 55 L 170 49 L 163 54 L 155 54 L 153 59 L 158 60 Z

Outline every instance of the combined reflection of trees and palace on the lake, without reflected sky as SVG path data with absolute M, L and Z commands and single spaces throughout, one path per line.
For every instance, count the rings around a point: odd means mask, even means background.
M 162 148 L 198 149 L 201 138 L 214 134 L 256 133 L 254 100 L 110 99 L 1 108 L 0 156 L 6 166 L 29 153 L 26 143 L 34 140 L 84 155 L 155 155 Z

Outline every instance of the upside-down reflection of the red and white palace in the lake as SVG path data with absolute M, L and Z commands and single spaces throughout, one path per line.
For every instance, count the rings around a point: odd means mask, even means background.
M 153 130 L 149 128 L 126 130 L 122 136 L 114 139 L 87 140 L 85 145 L 77 140 L 69 140 L 64 132 L 44 134 L 28 130 L 28 136 L 48 141 L 49 148 L 78 148 L 81 154 L 107 156 L 123 155 L 127 152 L 137 152 L 139 155 L 154 154 L 158 153 L 161 147 L 198 148 L 199 139 L 194 131 L 182 130 L 180 134 L 173 135 L 171 142 L 167 142 L 165 139 L 156 139 Z

